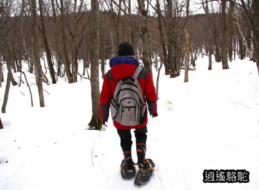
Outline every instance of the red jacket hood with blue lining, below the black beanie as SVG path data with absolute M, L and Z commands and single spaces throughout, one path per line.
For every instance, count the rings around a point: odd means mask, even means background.
M 134 58 L 113 57 L 110 60 L 111 74 L 114 79 L 132 77 L 139 62 Z

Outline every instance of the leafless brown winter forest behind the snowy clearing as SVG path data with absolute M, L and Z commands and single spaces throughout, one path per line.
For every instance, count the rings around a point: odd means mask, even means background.
M 20 85 L 12 73 L 26 76 L 26 63 L 35 74 L 41 107 L 43 83 L 55 84 L 60 78 L 73 83 L 79 76 L 90 79 L 90 125 L 100 129 L 99 67 L 104 75 L 105 60 L 117 55 L 123 41 L 133 45 L 136 59 L 151 74 L 151 67 L 160 71 L 162 64 L 171 78 L 188 74 L 199 55 L 209 56 L 208 69 L 213 69 L 212 56 L 223 69 L 236 57 L 249 57 L 259 73 L 259 0 L 193 4 L 189 0 L 0 0 L 0 87 L 1 81 L 7 81 L 2 112 L 10 85 Z M 84 64 L 82 73 L 79 60 Z M 8 76 L 3 76 L 3 64 Z

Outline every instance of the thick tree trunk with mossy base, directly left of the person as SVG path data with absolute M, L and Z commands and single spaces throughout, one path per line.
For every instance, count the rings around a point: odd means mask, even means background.
M 91 95 L 92 95 L 92 119 L 88 124 L 96 130 L 101 130 L 100 117 L 100 88 L 99 88 L 99 2 L 91 0 Z

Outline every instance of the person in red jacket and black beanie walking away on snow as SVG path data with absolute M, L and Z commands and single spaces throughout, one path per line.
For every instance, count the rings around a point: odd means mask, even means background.
M 113 124 L 120 136 L 126 170 L 134 167 L 131 156 L 131 129 L 135 129 L 138 166 L 147 167 L 145 162 L 147 140 L 147 106 L 150 115 L 158 116 L 157 96 L 151 74 L 139 66 L 133 47 L 123 42 L 118 56 L 110 60 L 111 69 L 105 74 L 100 97 L 100 111 L 103 125 L 108 121 L 109 109 Z

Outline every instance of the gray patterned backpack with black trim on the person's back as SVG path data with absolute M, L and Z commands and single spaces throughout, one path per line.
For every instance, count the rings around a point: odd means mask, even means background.
M 121 125 L 141 125 L 146 119 L 146 104 L 137 79 L 142 69 L 138 66 L 132 78 L 120 79 L 115 88 L 110 106 L 111 117 Z

